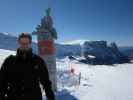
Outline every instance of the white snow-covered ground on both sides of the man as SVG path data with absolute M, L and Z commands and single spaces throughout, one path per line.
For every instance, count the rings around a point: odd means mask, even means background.
M 0 64 L 12 53 L 15 52 L 0 49 Z M 71 68 L 74 74 L 69 73 Z M 94 66 L 66 58 L 57 59 L 57 69 L 58 77 L 62 73 L 58 78 L 57 100 L 133 100 L 133 64 Z M 73 84 L 79 73 L 80 85 Z

